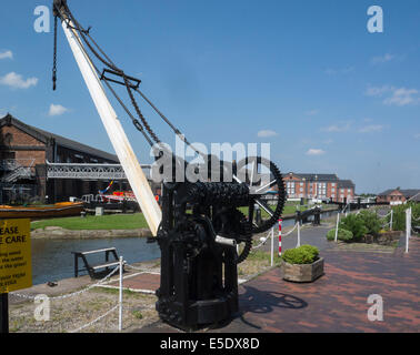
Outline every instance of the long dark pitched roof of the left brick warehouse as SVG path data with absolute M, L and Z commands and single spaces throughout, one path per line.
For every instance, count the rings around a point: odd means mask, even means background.
M 72 149 L 74 151 L 83 152 L 93 156 L 98 156 L 114 163 L 119 163 L 119 159 L 116 154 L 111 154 L 96 148 L 69 140 L 64 136 L 43 131 L 36 126 L 29 125 L 23 123 L 22 121 L 13 118 L 11 114 L 7 114 L 4 118 L 0 119 L 0 126 L 3 125 L 14 125 L 18 129 L 22 130 L 23 132 L 32 135 L 33 138 L 38 139 L 39 141 L 47 143 L 49 140 L 54 140 L 57 145 Z

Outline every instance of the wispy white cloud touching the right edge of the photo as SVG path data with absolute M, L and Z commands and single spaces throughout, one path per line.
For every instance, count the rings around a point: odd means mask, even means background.
M 369 87 L 366 91 L 366 95 L 384 98 L 382 103 L 387 105 L 404 106 L 408 104 L 420 103 L 420 92 L 417 89 L 396 88 L 390 85 L 383 85 L 380 88 Z

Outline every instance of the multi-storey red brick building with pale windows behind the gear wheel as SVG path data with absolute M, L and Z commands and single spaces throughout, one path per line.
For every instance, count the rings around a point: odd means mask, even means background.
M 320 199 L 337 202 L 354 199 L 354 184 L 351 180 L 340 180 L 336 174 L 284 175 L 286 192 L 289 199 Z

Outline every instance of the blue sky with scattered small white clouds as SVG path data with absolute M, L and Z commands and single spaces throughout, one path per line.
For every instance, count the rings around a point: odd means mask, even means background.
M 68 3 L 189 141 L 270 143 L 283 173 L 336 173 L 357 193 L 420 189 L 418 0 Z M 38 33 L 38 6 L 51 1 L 2 4 L 0 116 L 113 153 L 62 29 L 52 91 L 52 16 L 51 31 Z M 369 31 L 380 29 L 372 6 L 382 9 L 381 32 Z M 140 108 L 173 146 L 160 118 Z M 139 161 L 150 162 L 148 144 L 117 112 Z

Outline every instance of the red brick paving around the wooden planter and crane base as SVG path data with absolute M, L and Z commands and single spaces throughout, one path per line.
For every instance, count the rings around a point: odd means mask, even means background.
M 420 239 L 410 253 L 353 252 L 326 248 L 326 274 L 297 284 L 273 268 L 239 287 L 240 310 L 213 333 L 420 332 Z M 368 297 L 382 296 L 383 322 L 368 320 Z M 137 332 L 173 332 L 158 323 Z

